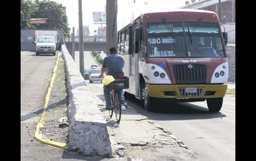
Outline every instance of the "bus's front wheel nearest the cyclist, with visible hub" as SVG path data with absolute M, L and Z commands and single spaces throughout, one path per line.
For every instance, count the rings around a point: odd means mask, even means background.
M 144 102 L 145 110 L 152 111 L 154 106 L 154 98 L 149 96 L 146 83 L 144 84 L 144 87 L 141 89 L 141 91 L 141 97 Z

